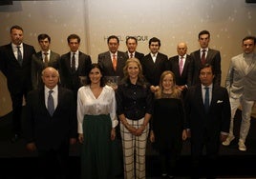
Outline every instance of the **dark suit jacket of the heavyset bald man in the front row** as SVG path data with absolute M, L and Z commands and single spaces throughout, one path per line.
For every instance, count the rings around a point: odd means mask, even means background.
M 24 136 L 28 143 L 34 142 L 39 150 L 58 149 L 62 144 L 69 144 L 70 138 L 77 135 L 73 92 L 58 87 L 57 101 L 51 116 L 45 105 L 44 88 L 34 89 L 28 94 Z

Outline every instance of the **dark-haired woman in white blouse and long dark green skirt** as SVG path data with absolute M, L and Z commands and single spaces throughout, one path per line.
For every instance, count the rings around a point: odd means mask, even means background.
M 113 141 L 117 126 L 115 91 L 105 85 L 98 64 L 92 64 L 86 85 L 77 92 L 81 178 L 113 178 Z

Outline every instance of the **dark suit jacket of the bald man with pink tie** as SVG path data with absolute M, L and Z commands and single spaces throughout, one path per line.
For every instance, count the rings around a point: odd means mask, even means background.
M 188 84 L 188 70 L 190 70 L 191 56 L 186 55 L 185 63 L 183 66 L 182 73 L 180 74 L 179 55 L 169 58 L 168 63 L 171 71 L 173 71 L 176 79 L 176 84 L 179 86 Z

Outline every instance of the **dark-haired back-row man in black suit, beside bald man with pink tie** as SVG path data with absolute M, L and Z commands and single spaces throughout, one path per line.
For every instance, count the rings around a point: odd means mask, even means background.
M 149 40 L 150 53 L 145 55 L 140 61 L 143 74 L 150 83 L 150 89 L 154 92 L 160 85 L 160 74 L 168 70 L 168 57 L 160 53 L 160 39 L 153 37 Z

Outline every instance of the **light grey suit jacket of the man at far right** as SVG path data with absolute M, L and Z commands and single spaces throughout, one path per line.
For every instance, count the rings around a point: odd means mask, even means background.
M 246 70 L 245 54 L 239 54 L 231 59 L 227 72 L 225 87 L 232 98 L 240 98 L 242 95 L 246 100 L 256 100 L 256 53 L 253 53 L 252 61 Z

